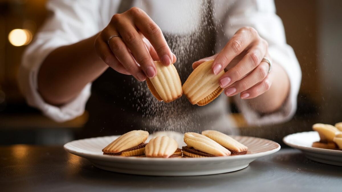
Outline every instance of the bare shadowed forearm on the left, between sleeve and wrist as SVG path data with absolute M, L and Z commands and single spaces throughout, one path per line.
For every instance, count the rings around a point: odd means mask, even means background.
M 44 60 L 38 73 L 38 91 L 47 103 L 69 102 L 107 69 L 94 50 L 97 36 L 57 48 Z

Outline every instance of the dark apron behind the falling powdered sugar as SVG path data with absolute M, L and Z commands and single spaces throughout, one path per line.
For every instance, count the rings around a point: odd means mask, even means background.
M 202 22 L 208 23 L 207 26 L 212 26 L 211 9 L 207 10 L 200 17 Z M 216 33 L 207 26 L 199 27 L 194 34 L 164 34 L 171 51 L 177 56 L 174 65 L 182 84 L 193 71 L 193 62 L 214 53 Z M 218 127 L 218 119 L 226 117 L 224 103 L 216 99 L 209 105 L 197 106 L 190 104 L 184 95 L 170 103 L 159 102 L 148 91 L 145 81 L 139 82 L 108 68 L 92 84 L 91 97 L 86 105 L 89 121 L 78 137 L 119 135 L 137 129 L 151 133 L 224 128 L 225 123 Z

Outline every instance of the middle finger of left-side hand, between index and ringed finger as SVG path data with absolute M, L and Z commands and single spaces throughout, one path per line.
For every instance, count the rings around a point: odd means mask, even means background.
M 128 21 L 123 20 L 119 22 L 118 31 L 125 42 L 126 46 L 131 50 L 132 55 L 141 69 L 149 78 L 157 74 L 156 67 L 153 63 L 152 57 L 146 49 L 145 43 L 134 26 Z

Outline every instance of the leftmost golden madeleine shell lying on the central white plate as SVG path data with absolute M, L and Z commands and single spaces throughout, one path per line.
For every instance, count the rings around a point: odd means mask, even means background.
M 120 151 L 132 148 L 144 143 L 148 137 L 148 132 L 143 130 L 134 130 L 123 134 L 116 140 L 111 142 L 105 148 L 103 148 L 104 153 L 119 153 Z

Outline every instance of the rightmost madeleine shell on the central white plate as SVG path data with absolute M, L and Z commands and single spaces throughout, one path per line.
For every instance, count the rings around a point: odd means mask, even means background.
M 244 144 L 239 143 L 235 139 L 219 131 L 206 130 L 202 131 L 202 135 L 209 137 L 210 139 L 216 141 L 217 143 L 231 151 L 242 152 L 248 150 L 247 146 L 245 146 Z

